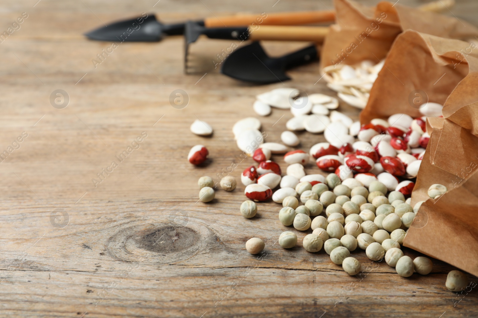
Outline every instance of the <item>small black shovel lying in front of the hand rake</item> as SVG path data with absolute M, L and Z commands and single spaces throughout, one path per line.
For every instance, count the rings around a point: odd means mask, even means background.
M 253 42 L 232 52 L 223 62 L 221 73 L 245 82 L 269 84 L 290 80 L 286 70 L 316 60 L 318 51 L 315 45 L 272 58 L 259 42 Z

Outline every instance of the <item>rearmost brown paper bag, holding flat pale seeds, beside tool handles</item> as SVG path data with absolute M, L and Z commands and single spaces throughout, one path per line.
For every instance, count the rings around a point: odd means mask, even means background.
M 407 29 L 462 40 L 478 36 L 478 29 L 473 25 L 455 17 L 424 11 L 424 8 L 393 5 L 387 1 L 376 7 L 352 0 L 334 0 L 334 5 L 336 23 L 330 27 L 324 41 L 321 70 L 342 62 L 349 65 L 363 60 L 379 62 L 387 55 L 395 38 Z

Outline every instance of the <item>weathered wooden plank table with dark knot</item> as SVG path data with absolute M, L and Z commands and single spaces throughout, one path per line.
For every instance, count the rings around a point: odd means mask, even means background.
M 0 30 L 28 14 L 0 44 L 0 152 L 12 150 L 0 164 L 1 317 L 478 315 L 477 288 L 460 296 L 447 291 L 445 277 L 453 268 L 443 262 L 435 260 L 428 276 L 403 278 L 360 250 L 352 255 L 366 273 L 350 277 L 324 252 L 306 252 L 305 233 L 298 233 L 295 248 L 278 245 L 285 230 L 279 205 L 260 204 L 253 219 L 240 216 L 243 185 L 232 193 L 217 190 L 212 203 L 196 202 L 200 176 L 224 172 L 239 180 L 253 164 L 238 159 L 231 126 L 255 116 L 256 94 L 290 86 L 334 95 L 317 82 L 317 63 L 290 72 L 290 82 L 252 86 L 214 69 L 228 41 L 201 39 L 192 56 L 206 68 L 185 75 L 179 37 L 122 43 L 95 67 L 92 60 L 111 43 L 82 36 L 102 22 L 141 12 L 179 21 L 236 11 L 331 9 L 331 1 L 35 2 L 11 1 L 0 13 Z M 477 3 L 458 2 L 452 12 L 476 23 Z M 280 55 L 302 45 L 269 43 L 267 49 Z M 59 89 L 69 96 L 65 108 L 50 103 Z M 184 109 L 169 102 L 176 89 L 189 96 Z M 341 110 L 357 118 L 356 109 L 342 104 Z M 274 109 L 261 118 L 267 141 L 279 141 L 290 117 Z M 190 133 L 197 118 L 214 127 L 212 137 Z M 22 132 L 27 137 L 16 143 Z M 133 143 L 141 133 L 147 136 Z M 304 150 L 323 140 L 309 133 L 300 138 Z M 195 144 L 210 152 L 200 167 L 186 160 Z M 285 170 L 281 156 L 274 160 Z M 234 162 L 239 165 L 231 169 Z M 252 236 L 266 242 L 261 258 L 244 249 Z

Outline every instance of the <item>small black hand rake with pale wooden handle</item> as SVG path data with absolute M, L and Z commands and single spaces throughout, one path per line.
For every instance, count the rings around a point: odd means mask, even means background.
M 185 73 L 189 73 L 188 60 L 189 44 L 195 42 L 199 35 L 204 34 L 211 39 L 239 40 L 239 41 L 312 41 L 320 43 L 328 33 L 328 27 L 313 26 L 272 26 L 237 28 L 206 28 L 196 22 L 189 21 L 185 27 Z M 260 47 L 260 46 L 259 46 Z M 253 47 L 254 48 L 254 47 Z M 263 51 L 262 51 L 263 52 Z M 264 53 L 265 54 L 265 53 Z

